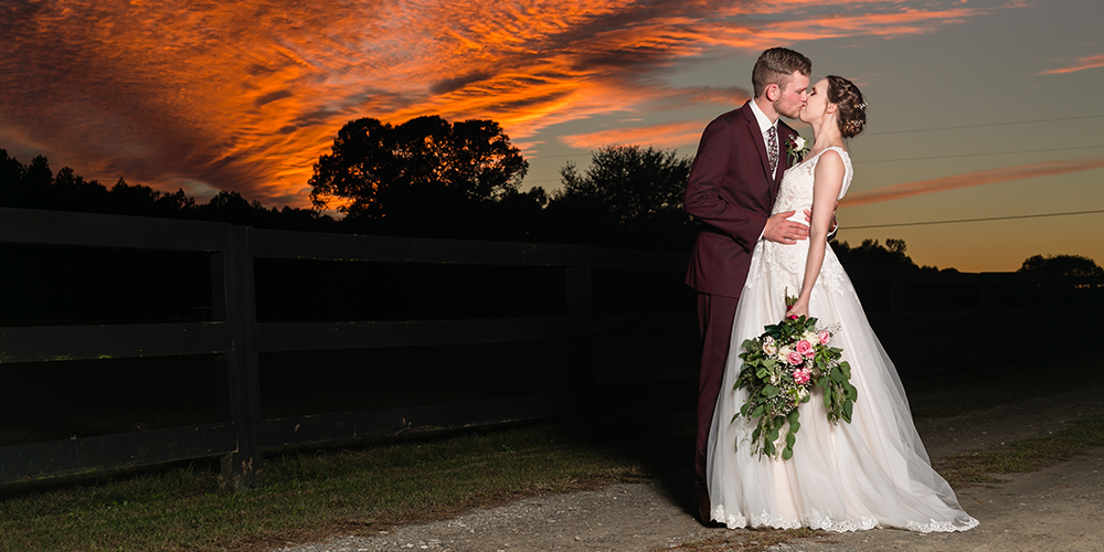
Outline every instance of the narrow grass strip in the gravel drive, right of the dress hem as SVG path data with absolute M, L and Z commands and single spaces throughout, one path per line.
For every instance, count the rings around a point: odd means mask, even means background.
M 1104 446 L 1104 418 L 1079 420 L 1053 435 L 949 456 L 937 468 L 947 482 L 960 488 L 999 482 L 997 474 L 1034 471 L 1101 446 Z

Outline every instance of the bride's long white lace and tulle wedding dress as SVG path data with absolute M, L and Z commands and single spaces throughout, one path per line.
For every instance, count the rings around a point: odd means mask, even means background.
M 839 197 L 851 182 L 851 162 L 842 148 L 846 172 Z M 826 150 L 827 151 L 827 150 Z M 783 177 L 774 212 L 813 205 L 814 168 L 824 152 L 790 168 Z M 786 312 L 785 295 L 797 296 L 809 242 L 782 245 L 760 240 L 736 307 L 732 348 L 709 435 L 707 479 L 711 517 L 730 529 L 808 527 L 828 531 L 902 528 L 914 531 L 965 531 L 977 526 L 958 506 L 951 486 L 931 467 L 909 411 L 901 380 L 867 321 L 859 298 L 831 247 L 809 299 L 819 327 L 839 323 L 831 346 L 843 350 L 858 388 L 851 423 L 825 418 L 820 391 L 799 407 L 802 427 L 788 460 L 753 456 L 754 424 L 733 421 L 747 399 L 733 390 L 742 360 L 741 343 L 758 337 Z

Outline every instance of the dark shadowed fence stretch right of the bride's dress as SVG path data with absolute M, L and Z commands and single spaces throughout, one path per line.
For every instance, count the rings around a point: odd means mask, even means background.
M 991 368 L 1102 349 L 1104 277 L 848 267 L 898 370 Z

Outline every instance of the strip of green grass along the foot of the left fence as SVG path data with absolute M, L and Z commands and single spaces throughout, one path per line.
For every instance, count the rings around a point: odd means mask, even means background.
M 224 487 L 214 463 L 24 484 L 0 501 L 0 550 L 265 550 L 643 477 L 570 435 L 531 425 L 288 452 L 265 459 L 265 485 L 248 493 Z

